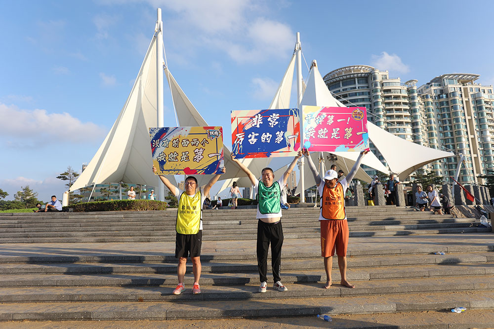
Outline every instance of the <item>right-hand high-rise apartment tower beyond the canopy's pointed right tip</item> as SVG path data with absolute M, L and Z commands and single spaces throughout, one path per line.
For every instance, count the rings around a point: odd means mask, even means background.
M 449 151 L 464 155 L 460 183 L 482 183 L 477 176 L 494 169 L 491 143 L 491 136 L 494 136 L 493 86 L 475 83 L 479 76 L 443 74 L 417 88 L 428 126 L 435 126 L 438 132 L 431 135 L 428 130 L 427 137 Z M 442 161 L 443 176 L 454 177 L 459 158 L 455 156 Z

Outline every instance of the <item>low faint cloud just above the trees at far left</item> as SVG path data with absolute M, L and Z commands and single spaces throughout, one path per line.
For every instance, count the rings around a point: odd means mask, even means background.
M 63 172 L 63 168 L 61 171 Z M 19 176 L 14 179 L 4 179 L 0 180 L 1 188 L 7 192 L 9 195 L 5 198 L 5 200 L 13 200 L 14 194 L 17 191 L 21 190 L 21 187 L 25 187 L 29 185 L 29 187 L 38 193 L 38 199 L 44 202 L 50 201 L 50 197 L 52 195 L 56 195 L 60 201 L 62 200 L 62 194 L 67 189 L 65 182 L 56 178 L 58 176 L 56 173 L 53 173 L 53 177 L 48 177 L 42 181 L 34 180 L 31 178 L 26 178 Z

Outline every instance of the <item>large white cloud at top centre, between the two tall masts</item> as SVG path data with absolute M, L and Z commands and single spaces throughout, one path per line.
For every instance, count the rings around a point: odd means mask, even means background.
M 163 8 L 167 16 L 164 21 L 165 42 L 173 44 L 167 54 L 174 63 L 180 60 L 182 65 L 187 65 L 191 61 L 186 57 L 200 56 L 204 48 L 225 52 L 238 63 L 263 62 L 288 57 L 294 46 L 295 34 L 288 24 L 281 20 L 259 18 L 269 14 L 269 8 L 257 0 L 99 1 L 100 4 L 118 5 L 136 2 Z M 144 49 L 140 44 L 147 46 L 149 37 L 134 43 Z M 180 53 L 176 49 L 180 49 Z

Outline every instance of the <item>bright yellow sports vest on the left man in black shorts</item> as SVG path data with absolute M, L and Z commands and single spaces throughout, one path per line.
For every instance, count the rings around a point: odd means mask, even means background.
M 182 192 L 178 200 L 175 230 L 180 234 L 197 234 L 201 226 L 201 192 L 193 197 Z

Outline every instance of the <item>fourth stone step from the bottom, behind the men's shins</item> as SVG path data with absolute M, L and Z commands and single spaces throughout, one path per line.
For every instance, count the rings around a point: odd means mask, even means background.
M 336 258 L 336 257 L 334 257 Z M 457 253 L 447 255 L 387 255 L 374 257 L 349 257 L 348 268 L 382 267 L 398 265 L 425 265 L 425 264 L 461 264 L 494 262 L 494 253 Z M 333 267 L 337 268 L 337 261 L 333 259 Z M 282 260 L 284 270 L 323 270 L 321 257 Z M 187 271 L 192 271 L 192 264 L 188 262 Z M 257 272 L 257 264 L 252 260 L 204 260 L 203 273 L 245 273 Z M 396 272 L 396 271 L 395 271 Z M 74 262 L 74 263 L 4 263 L 0 266 L 0 274 L 111 274 L 111 273 L 176 273 L 176 260 L 167 262 Z

